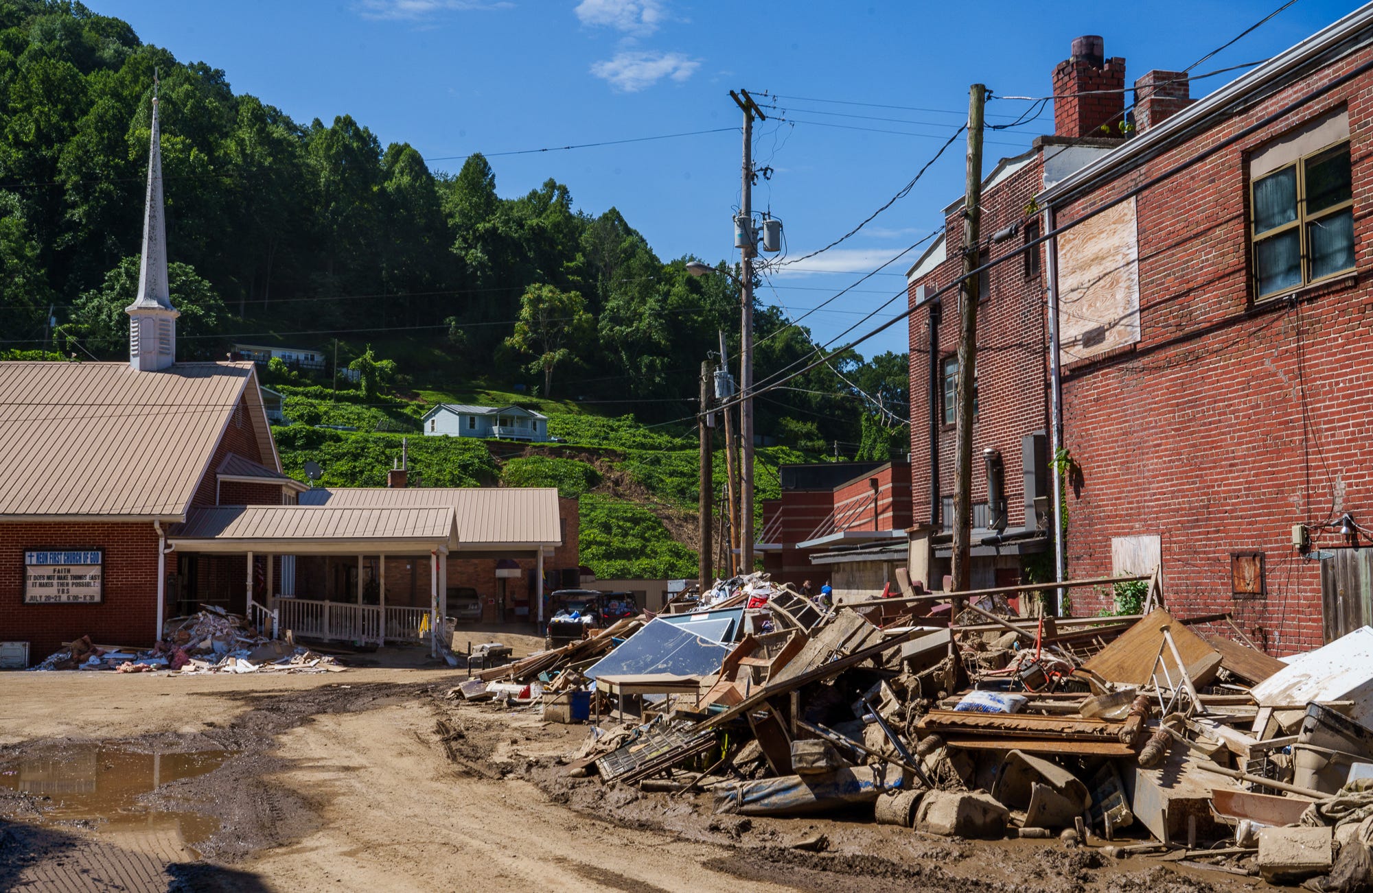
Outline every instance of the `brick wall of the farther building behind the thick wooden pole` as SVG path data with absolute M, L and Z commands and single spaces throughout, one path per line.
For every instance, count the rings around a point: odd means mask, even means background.
M 1056 151 L 1053 147 L 1045 151 Z M 1041 158 L 1015 171 L 1006 180 L 982 193 L 982 232 L 987 236 L 1012 224 L 1020 230 L 1012 239 L 993 244 L 982 255 L 982 262 L 1009 254 L 1023 244 L 1026 224 L 1037 215 L 1027 213 L 1043 180 Z M 927 294 L 956 281 L 962 274 L 962 207 L 947 217 L 947 259 L 923 278 L 910 283 L 909 300 L 916 303 L 919 287 Z M 972 427 L 972 502 L 987 499 L 987 476 L 983 471 L 982 450 L 1001 451 L 1005 468 L 1005 501 L 1011 527 L 1026 524 L 1024 468 L 1022 438 L 1048 429 L 1048 370 L 1043 315 L 1043 274 L 1027 272 L 1024 262 L 1008 261 L 983 276 L 991 280 L 987 298 L 978 306 L 978 416 Z M 942 361 L 958 350 L 957 291 L 941 299 L 942 321 L 934 346 Z M 930 406 L 934 401 L 939 414 L 939 492 L 953 497 L 954 425 L 943 424 L 942 379 L 930 391 L 930 314 L 931 305 L 917 307 L 909 318 L 910 336 L 910 492 L 912 519 L 916 524 L 931 523 L 930 506 Z M 941 372 L 942 374 L 942 372 Z M 941 519 L 947 524 L 951 519 Z M 1034 524 L 1034 519 L 1030 519 Z

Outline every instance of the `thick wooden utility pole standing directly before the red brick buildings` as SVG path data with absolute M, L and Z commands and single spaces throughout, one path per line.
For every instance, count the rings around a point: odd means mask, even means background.
M 972 401 L 978 381 L 978 241 L 982 237 L 982 112 L 987 88 L 968 89 L 968 184 L 962 202 L 962 285 L 958 289 L 958 447 L 953 484 L 953 591 L 972 588 Z M 962 598 L 953 599 L 950 620 L 962 613 Z

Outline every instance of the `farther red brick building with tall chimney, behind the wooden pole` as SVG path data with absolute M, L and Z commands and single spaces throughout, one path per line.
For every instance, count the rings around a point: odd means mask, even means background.
M 1020 251 L 1041 233 L 1035 195 L 1122 143 L 1124 59 L 1081 37 L 1053 71 L 1056 134 L 1004 158 L 983 178 L 980 263 Z M 1081 93 L 1081 95 L 1079 95 Z M 1108 136 L 1101 128 L 1107 126 Z M 930 549 L 920 582 L 943 588 L 954 497 L 958 291 L 964 199 L 945 209 L 942 235 L 908 270 L 910 468 L 917 549 Z M 1027 561 L 1052 550 L 1049 377 L 1042 252 L 1022 252 L 979 276 L 972 475 L 972 587 L 1017 583 Z M 939 289 L 949 288 L 939 295 Z M 989 483 L 998 498 L 989 499 Z M 924 540 L 924 536 L 930 540 Z M 928 542 L 928 546 L 925 545 Z M 1052 572 L 1052 562 L 1048 565 Z M 917 571 L 919 573 L 919 571 Z

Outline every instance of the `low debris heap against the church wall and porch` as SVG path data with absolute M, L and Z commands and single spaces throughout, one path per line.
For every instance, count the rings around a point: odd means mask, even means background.
M 93 645 L 89 635 L 67 642 L 33 669 L 108 669 L 122 674 L 172 671 L 194 676 L 218 672 L 341 672 L 334 657 L 270 639 L 239 615 L 206 605 L 189 617 L 173 617 L 165 638 L 147 650 Z

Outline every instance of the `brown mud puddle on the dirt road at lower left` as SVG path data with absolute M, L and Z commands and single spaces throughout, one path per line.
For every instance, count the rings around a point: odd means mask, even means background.
M 0 791 L 14 791 L 23 809 L 11 818 L 34 824 L 81 829 L 140 842 L 172 846 L 191 857 L 196 846 L 220 830 L 218 819 L 178 812 L 146 801 L 162 785 L 217 770 L 227 750 L 139 753 L 100 743 L 66 745 L 0 767 Z

